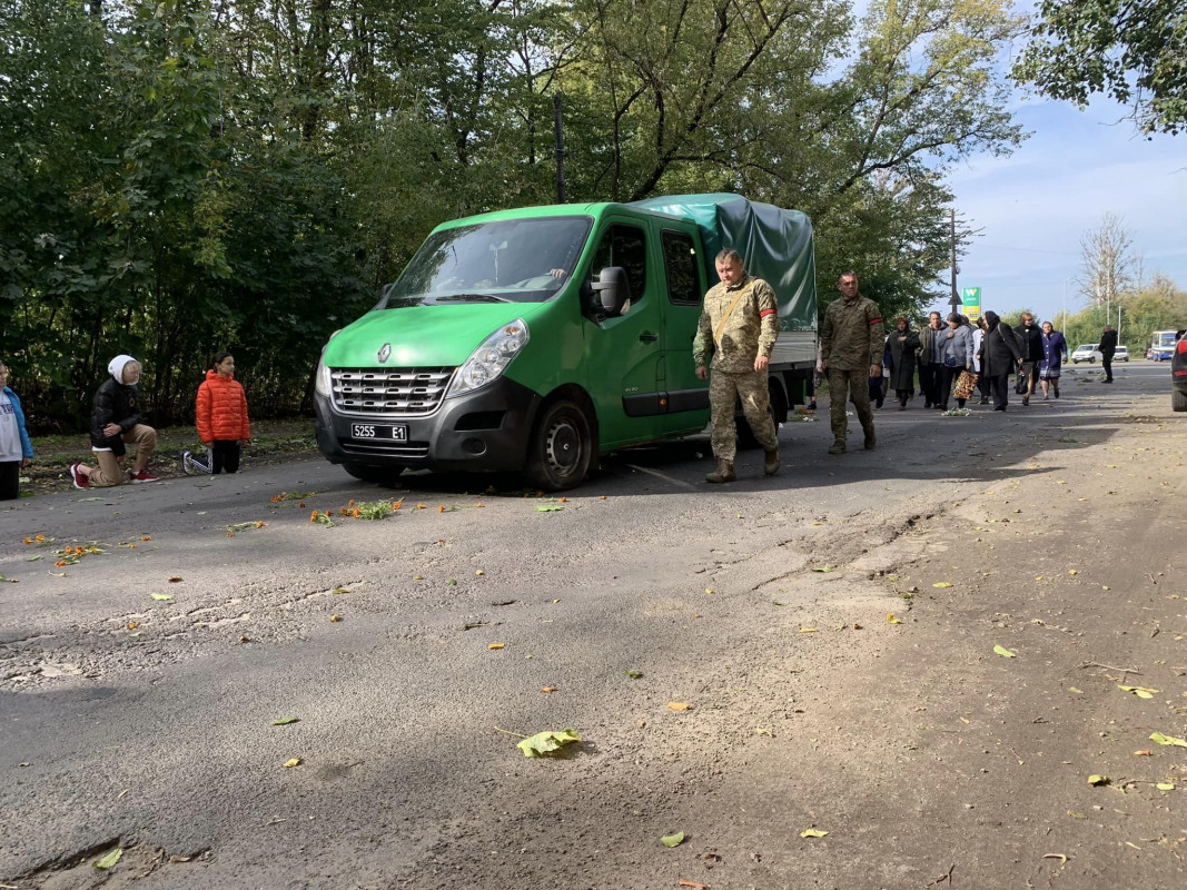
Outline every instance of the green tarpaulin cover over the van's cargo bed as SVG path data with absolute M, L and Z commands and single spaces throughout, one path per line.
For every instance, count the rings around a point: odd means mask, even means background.
M 742 254 L 747 272 L 766 280 L 779 298 L 785 331 L 815 330 L 815 253 L 812 221 L 798 210 L 747 201 L 741 195 L 671 195 L 630 206 L 691 220 L 705 246 L 702 258 L 710 284 L 717 282 L 713 258 L 725 247 Z

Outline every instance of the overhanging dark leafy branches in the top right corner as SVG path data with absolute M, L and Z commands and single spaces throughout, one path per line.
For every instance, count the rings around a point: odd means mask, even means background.
M 1014 76 L 1084 107 L 1093 94 L 1132 106 L 1145 133 L 1187 125 L 1182 0 L 1042 0 Z

